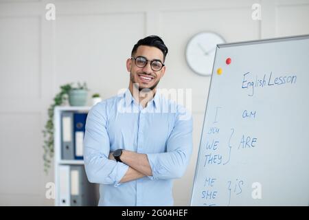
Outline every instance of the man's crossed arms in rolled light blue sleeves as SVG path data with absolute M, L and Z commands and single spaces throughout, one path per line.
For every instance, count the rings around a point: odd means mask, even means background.
M 101 104 L 101 105 L 100 105 Z M 97 104 L 87 116 L 84 136 L 84 166 L 90 182 L 118 184 L 141 177 L 150 179 L 180 178 L 192 153 L 192 119 L 176 120 L 166 142 L 164 153 L 123 151 L 122 162 L 116 162 L 110 152 L 106 131 L 104 103 Z

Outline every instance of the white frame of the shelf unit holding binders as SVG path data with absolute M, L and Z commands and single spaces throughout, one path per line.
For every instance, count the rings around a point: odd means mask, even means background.
M 61 113 L 63 111 L 88 112 L 91 107 L 55 107 L 54 109 L 54 168 L 55 206 L 60 206 L 60 165 L 82 165 L 83 160 L 61 159 Z

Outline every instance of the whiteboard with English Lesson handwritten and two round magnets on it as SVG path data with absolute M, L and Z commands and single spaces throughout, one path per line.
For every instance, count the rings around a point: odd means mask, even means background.
M 191 205 L 308 206 L 308 114 L 309 35 L 217 45 Z

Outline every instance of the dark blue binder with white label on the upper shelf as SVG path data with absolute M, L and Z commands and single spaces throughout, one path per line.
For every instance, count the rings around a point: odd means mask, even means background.
M 84 142 L 84 131 L 87 120 L 87 113 L 74 113 L 74 158 L 84 159 L 83 155 L 83 142 Z

